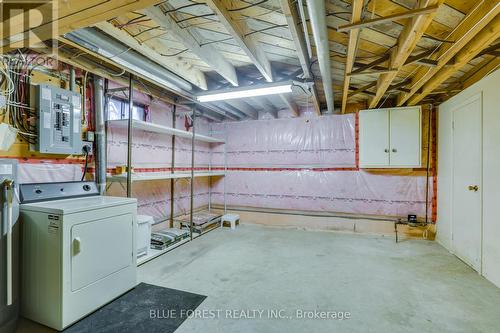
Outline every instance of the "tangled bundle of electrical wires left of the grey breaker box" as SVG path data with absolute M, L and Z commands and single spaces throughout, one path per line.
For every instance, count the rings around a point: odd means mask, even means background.
M 28 143 L 36 143 L 36 110 L 29 106 L 31 73 L 37 65 L 38 56 L 28 57 L 19 51 L 3 55 L 0 69 L 2 81 L 7 81 L 5 90 L 6 108 L 10 125 Z

